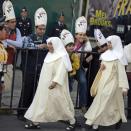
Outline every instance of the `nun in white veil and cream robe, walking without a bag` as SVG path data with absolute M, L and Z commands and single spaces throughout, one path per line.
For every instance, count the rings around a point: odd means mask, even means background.
M 72 70 L 68 53 L 58 37 L 47 39 L 49 53 L 41 70 L 35 97 L 24 117 L 25 128 L 40 128 L 39 123 L 69 121 L 74 129 L 74 107 L 69 93 L 68 72 Z

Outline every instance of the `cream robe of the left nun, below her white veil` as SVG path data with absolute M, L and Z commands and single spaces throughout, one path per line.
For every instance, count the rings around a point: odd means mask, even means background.
M 58 85 L 50 90 L 48 87 L 52 81 Z M 48 64 L 44 63 L 35 97 L 24 117 L 33 122 L 75 122 L 68 87 L 68 72 L 61 58 Z

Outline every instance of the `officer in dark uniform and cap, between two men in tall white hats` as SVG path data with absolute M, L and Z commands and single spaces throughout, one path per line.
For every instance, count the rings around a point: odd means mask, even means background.
M 28 17 L 28 10 L 26 7 L 21 9 L 21 16 L 17 18 L 17 28 L 19 28 L 22 36 L 29 36 L 32 33 L 32 22 Z

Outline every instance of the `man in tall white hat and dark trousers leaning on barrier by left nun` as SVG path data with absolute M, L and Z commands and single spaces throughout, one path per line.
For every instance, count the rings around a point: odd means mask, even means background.
M 39 17 L 43 14 L 43 17 Z M 20 120 L 24 120 L 24 114 L 26 109 L 30 106 L 39 80 L 39 74 L 41 71 L 44 58 L 48 52 L 46 49 L 45 29 L 47 23 L 47 13 L 43 8 L 39 8 L 35 13 L 35 34 L 31 34 L 28 38 L 27 44 L 33 44 L 33 48 L 22 52 L 22 73 L 23 73 L 23 86 L 21 91 L 21 97 L 17 110 L 17 117 Z M 28 47 L 28 45 L 26 46 Z M 44 49 L 43 49 L 44 48 Z M 23 109 L 22 109 L 23 108 Z

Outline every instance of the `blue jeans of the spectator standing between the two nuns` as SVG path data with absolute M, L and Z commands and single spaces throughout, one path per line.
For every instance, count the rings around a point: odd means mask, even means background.
M 78 92 L 79 92 L 79 106 L 87 106 L 87 79 L 86 79 L 86 72 L 84 69 L 80 68 L 77 71 L 76 79 L 78 81 Z

